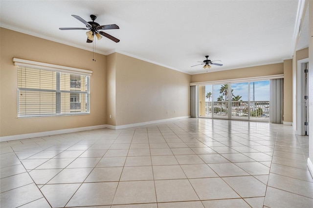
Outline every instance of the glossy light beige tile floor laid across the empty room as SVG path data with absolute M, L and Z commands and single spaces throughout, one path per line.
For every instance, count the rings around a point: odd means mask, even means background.
M 182 119 L 0 143 L 0 207 L 312 208 L 309 138 Z

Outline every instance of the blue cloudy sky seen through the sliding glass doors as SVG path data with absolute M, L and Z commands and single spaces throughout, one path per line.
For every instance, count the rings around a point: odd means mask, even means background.
M 205 85 L 205 95 L 208 92 L 213 93 L 214 101 L 217 100 L 222 93 L 220 93 L 221 86 L 223 84 L 214 84 L 213 91 L 212 85 Z M 231 83 L 231 88 L 233 89 L 234 96 L 242 96 L 241 100 L 248 101 L 248 83 Z M 255 101 L 269 101 L 269 80 L 254 82 L 254 98 Z M 225 96 L 224 96 L 225 99 Z M 250 101 L 253 100 L 253 82 L 250 82 Z M 205 99 L 209 101 L 209 99 Z M 212 101 L 212 97 L 210 98 Z

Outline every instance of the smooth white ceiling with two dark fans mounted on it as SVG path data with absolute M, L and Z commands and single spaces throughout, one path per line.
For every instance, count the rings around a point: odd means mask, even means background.
M 96 41 L 96 52 L 123 53 L 189 74 L 204 73 L 205 55 L 221 60 L 209 71 L 290 59 L 298 31 L 299 0 L 1 0 L 0 26 L 92 51 L 85 27 L 100 25 L 120 39 Z M 304 45 L 307 43 L 304 43 Z M 91 61 L 92 57 L 86 57 Z M 37 60 L 40 61 L 40 60 Z

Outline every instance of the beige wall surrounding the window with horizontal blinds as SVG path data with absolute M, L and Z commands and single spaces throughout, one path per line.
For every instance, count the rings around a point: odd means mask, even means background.
M 96 54 L 97 61 L 93 62 L 90 51 L 4 28 L 0 28 L 0 44 L 0 136 L 106 124 L 106 56 Z M 13 57 L 92 70 L 90 114 L 18 119 Z

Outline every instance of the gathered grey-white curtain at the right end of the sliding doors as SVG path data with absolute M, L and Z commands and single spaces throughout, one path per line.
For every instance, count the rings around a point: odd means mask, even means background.
M 283 123 L 283 79 L 272 79 L 269 81 L 269 121 L 270 123 Z

